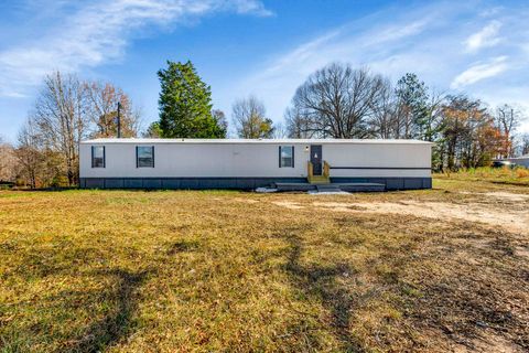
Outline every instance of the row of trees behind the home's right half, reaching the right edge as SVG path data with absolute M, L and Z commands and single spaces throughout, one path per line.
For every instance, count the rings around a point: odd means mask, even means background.
M 438 170 L 488 165 L 495 158 L 529 152 L 517 136 L 523 111 L 495 109 L 465 94 L 430 89 L 408 73 L 395 85 L 368 68 L 331 64 L 312 74 L 285 115 L 291 138 L 418 139 L 434 142 Z

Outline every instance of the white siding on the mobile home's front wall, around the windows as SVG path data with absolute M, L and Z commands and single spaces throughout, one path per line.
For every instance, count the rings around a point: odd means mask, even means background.
M 139 140 L 139 141 L 138 141 Z M 310 143 L 280 141 L 278 143 L 239 142 L 168 142 L 164 139 L 130 139 L 122 142 L 95 140 L 80 145 L 82 178 L 306 178 Z M 326 142 L 322 145 L 323 160 L 331 176 L 348 178 L 430 178 L 431 145 Z M 91 168 L 90 149 L 105 146 L 105 168 Z M 155 168 L 138 168 L 136 148 L 154 146 Z M 293 168 L 279 168 L 279 148 L 293 146 Z M 352 169 L 339 169 L 350 167 Z M 373 168 L 373 169 L 370 169 Z M 400 169 L 402 168 L 402 169 Z

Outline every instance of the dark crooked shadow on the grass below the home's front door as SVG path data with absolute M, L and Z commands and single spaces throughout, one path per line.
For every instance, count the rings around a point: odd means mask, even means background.
M 287 237 L 290 243 L 290 254 L 285 270 L 293 284 L 304 295 L 319 298 L 332 313 L 333 334 L 342 343 L 345 352 L 363 352 L 359 342 L 349 332 L 350 312 L 355 300 L 346 288 L 337 284 L 339 276 L 353 272 L 347 264 L 333 266 L 302 266 L 300 257 L 302 244 L 298 236 Z

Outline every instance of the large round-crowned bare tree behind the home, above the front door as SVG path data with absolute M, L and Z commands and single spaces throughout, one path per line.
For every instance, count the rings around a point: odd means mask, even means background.
M 331 64 L 300 86 L 292 99 L 319 137 L 367 138 L 368 121 L 382 98 L 386 81 L 367 68 Z

